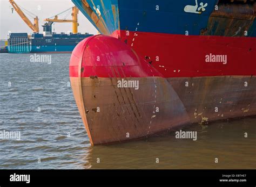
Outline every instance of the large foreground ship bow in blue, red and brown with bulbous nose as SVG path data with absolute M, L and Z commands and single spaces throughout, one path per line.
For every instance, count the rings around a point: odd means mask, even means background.
M 254 1 L 72 2 L 103 34 L 70 60 L 92 145 L 256 116 Z

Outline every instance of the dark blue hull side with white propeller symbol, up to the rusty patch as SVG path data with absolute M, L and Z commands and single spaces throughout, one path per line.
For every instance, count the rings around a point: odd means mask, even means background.
M 208 19 L 217 1 L 200 1 L 205 7 L 205 11 L 199 13 L 185 12 L 187 5 L 195 5 L 195 1 L 119 1 L 120 30 L 156 32 L 169 34 L 199 35 L 202 28 L 207 27 Z M 134 4 L 136 7 L 134 8 Z M 132 7 L 133 6 L 133 7 Z M 199 7 L 199 6 L 198 6 Z M 134 15 L 131 19 L 130 16 Z M 139 25 L 138 25 L 139 23 Z

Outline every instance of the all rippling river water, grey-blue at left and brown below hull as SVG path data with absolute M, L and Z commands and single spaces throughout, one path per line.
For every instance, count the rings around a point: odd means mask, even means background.
M 51 54 L 50 64 L 0 57 L 0 132 L 21 132 L 0 139 L 0 169 L 256 168 L 256 118 L 187 127 L 197 141 L 170 133 L 91 147 L 69 87 L 70 54 Z

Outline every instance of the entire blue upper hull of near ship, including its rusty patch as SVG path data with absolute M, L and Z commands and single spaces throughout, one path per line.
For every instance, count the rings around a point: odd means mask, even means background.
M 248 31 L 246 36 L 256 35 L 255 20 L 248 21 L 251 19 L 249 15 L 253 11 L 252 5 L 240 4 L 235 8 L 235 4 L 234 6 L 219 4 L 219 0 L 72 0 L 72 2 L 102 34 L 125 30 L 182 35 L 242 36 L 241 33 L 235 34 L 237 24 L 241 27 L 241 31 Z M 220 12 L 218 16 L 212 16 L 213 13 L 216 15 L 218 12 Z M 237 20 L 241 20 L 241 23 Z M 211 21 L 215 21 L 216 27 L 211 27 Z M 99 22 L 102 24 L 100 25 Z M 222 23 L 226 24 L 223 26 Z M 223 34 L 219 32 L 221 29 L 219 27 L 224 30 L 230 28 L 232 31 L 230 34 Z

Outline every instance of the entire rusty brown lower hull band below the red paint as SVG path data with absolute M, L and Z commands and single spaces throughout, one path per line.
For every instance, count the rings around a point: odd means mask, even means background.
M 138 139 L 191 123 L 203 124 L 214 120 L 255 116 L 256 113 L 256 89 L 244 87 L 244 82 L 251 80 L 251 87 L 256 88 L 254 77 L 169 78 L 171 84 L 164 78 L 156 77 L 157 91 L 159 94 L 161 92 L 156 103 L 151 94 L 154 92 L 153 77 L 139 78 L 143 91 L 132 92 L 137 104 L 125 102 L 132 95 L 118 91 L 116 80 L 112 82 L 110 78 L 99 78 L 100 84 L 95 86 L 96 80 L 89 77 L 81 78 L 81 85 L 77 84 L 78 79 L 71 77 L 71 84 L 73 90 L 77 87 L 82 89 L 82 99 L 81 92 L 74 91 L 74 95 L 78 109 L 82 111 L 82 119 L 86 119 L 84 124 L 93 145 Z M 180 86 L 186 81 L 193 81 L 193 87 L 185 90 L 185 87 Z M 95 98 L 93 96 L 96 93 L 101 94 Z M 84 100 L 84 106 L 79 100 Z M 134 120 L 139 116 L 134 111 L 135 105 L 142 115 L 139 121 Z M 154 105 L 160 111 L 152 118 Z M 100 112 L 93 110 L 97 107 Z M 214 111 L 215 107 L 218 107 L 218 112 Z

